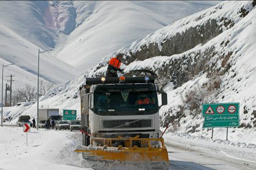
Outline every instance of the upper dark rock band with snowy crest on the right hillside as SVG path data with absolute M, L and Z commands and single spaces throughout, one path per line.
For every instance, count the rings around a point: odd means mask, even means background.
M 119 49 L 118 52 L 127 56 L 126 64 L 137 59 L 144 60 L 155 56 L 183 53 L 199 44 L 205 44 L 231 28 L 241 20 L 242 15 L 246 15 L 246 10 L 251 10 L 251 3 L 248 1 L 219 3 L 134 41 Z M 106 65 L 115 53 L 102 59 L 96 68 Z

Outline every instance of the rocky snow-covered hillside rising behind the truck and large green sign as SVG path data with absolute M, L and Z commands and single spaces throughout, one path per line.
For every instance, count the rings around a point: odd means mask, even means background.
M 246 140 L 242 134 L 255 129 L 255 5 L 255 1 L 222 2 L 118 50 L 127 56 L 125 71 L 150 69 L 159 75 L 158 84 L 169 96 L 168 105 L 160 109 L 162 125 L 170 124 L 170 130 L 177 133 L 209 136 L 210 131 L 202 129 L 200 108 L 193 109 L 187 95 L 197 89 L 203 94 L 205 87 L 221 79 L 200 102 L 240 102 L 241 128 L 231 128 L 242 136 L 237 142 Z M 183 46 L 171 46 L 174 42 Z M 102 59 L 85 76 L 104 74 L 114 54 Z M 77 109 L 80 114 L 76 95 L 83 82 L 81 75 L 48 91 L 40 98 L 40 107 Z M 13 122 L 18 118 L 15 110 L 36 116 L 35 104 L 5 108 L 4 115 L 13 117 Z M 221 136 L 223 130 L 214 133 Z

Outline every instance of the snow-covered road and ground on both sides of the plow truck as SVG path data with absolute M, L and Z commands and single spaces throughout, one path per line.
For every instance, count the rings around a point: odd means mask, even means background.
M 88 162 L 82 160 L 80 153 L 74 152 L 81 143 L 78 131 L 31 129 L 28 146 L 23 128 L 5 126 L 0 128 L 0 134 L 0 169 L 88 168 Z M 169 169 L 256 169 L 256 145 L 238 147 L 169 134 L 164 136 L 164 140 L 169 153 Z M 119 164 L 117 168 L 101 165 L 105 169 L 123 169 Z M 98 169 L 102 169 L 101 165 Z M 126 165 L 125 169 L 138 169 L 129 166 Z

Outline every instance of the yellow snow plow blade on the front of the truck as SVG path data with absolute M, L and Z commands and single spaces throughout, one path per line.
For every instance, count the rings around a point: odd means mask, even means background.
M 125 147 L 113 147 L 112 142 L 117 141 L 124 142 Z M 141 147 L 133 146 L 133 141 L 139 141 Z M 151 142 L 159 144 L 151 145 Z M 168 152 L 162 138 L 91 138 L 91 143 L 94 145 L 82 146 L 75 152 L 82 152 L 84 159 L 94 162 L 145 163 L 153 165 L 155 169 L 168 168 Z M 101 146 L 95 145 L 96 143 L 100 143 Z

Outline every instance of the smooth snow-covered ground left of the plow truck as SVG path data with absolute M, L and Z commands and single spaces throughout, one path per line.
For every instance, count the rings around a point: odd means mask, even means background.
M 28 146 L 23 128 L 3 127 L 0 134 L 2 169 L 84 169 L 81 155 L 73 152 L 78 133 L 31 129 Z

